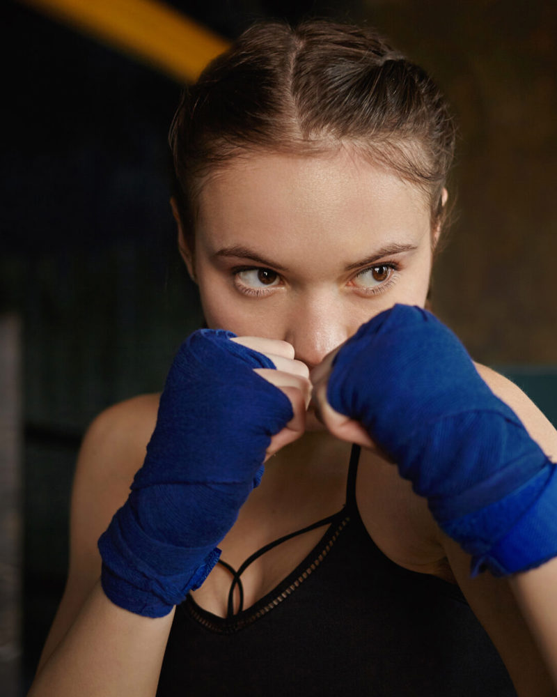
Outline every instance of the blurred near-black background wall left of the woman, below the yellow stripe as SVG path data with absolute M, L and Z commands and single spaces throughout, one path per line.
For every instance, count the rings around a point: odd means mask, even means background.
M 23 327 L 29 687 L 63 591 L 81 435 L 109 404 L 162 388 L 201 313 L 168 205 L 180 85 L 25 6 L 3 14 L 0 311 Z

